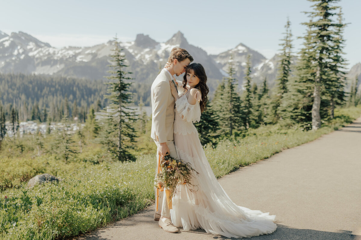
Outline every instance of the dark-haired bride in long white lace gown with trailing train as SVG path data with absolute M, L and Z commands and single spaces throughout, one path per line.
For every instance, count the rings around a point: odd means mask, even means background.
M 178 157 L 199 172 L 192 178 L 197 189 L 178 185 L 173 197 L 171 221 L 184 230 L 202 228 L 225 237 L 252 237 L 274 232 L 275 216 L 237 206 L 219 185 L 205 157 L 198 132 L 192 122 L 199 122 L 206 108 L 207 76 L 199 63 L 190 64 L 179 87 L 179 95 L 170 82 L 175 98 L 174 143 Z

